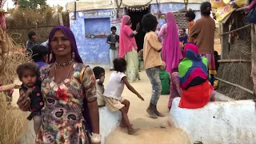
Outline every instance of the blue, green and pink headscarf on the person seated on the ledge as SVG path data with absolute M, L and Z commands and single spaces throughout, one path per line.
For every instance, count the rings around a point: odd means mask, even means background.
M 207 59 L 198 54 L 198 46 L 187 43 L 184 48 L 185 58 L 178 66 L 181 87 L 187 90 L 191 86 L 201 85 L 208 79 Z

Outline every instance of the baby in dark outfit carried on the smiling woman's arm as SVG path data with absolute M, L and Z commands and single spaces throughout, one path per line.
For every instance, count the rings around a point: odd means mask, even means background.
M 38 130 L 42 124 L 41 109 L 44 106 L 41 82 L 38 80 L 38 66 L 34 63 L 25 63 L 17 68 L 18 78 L 22 82 L 19 90 L 21 97 L 30 99 L 31 114 L 27 118 L 34 121 L 34 132 L 38 134 Z

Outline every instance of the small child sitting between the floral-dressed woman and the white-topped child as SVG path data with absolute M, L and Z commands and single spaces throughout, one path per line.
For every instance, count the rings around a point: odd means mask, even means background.
M 98 106 L 105 106 L 105 101 L 103 99 L 103 93 L 104 93 L 103 83 L 105 79 L 105 70 L 100 66 L 94 67 L 93 70 L 96 78 L 97 103 L 98 103 Z

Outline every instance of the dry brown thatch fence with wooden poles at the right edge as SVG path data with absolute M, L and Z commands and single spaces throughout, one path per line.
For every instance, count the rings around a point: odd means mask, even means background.
M 242 20 L 239 20 L 243 22 Z M 238 23 L 238 22 L 237 22 Z M 243 23 L 243 26 L 246 22 Z M 241 27 L 241 26 L 239 26 Z M 248 90 L 253 90 L 253 82 L 250 77 L 251 72 L 251 38 L 250 27 L 237 32 L 238 36 L 234 38 L 233 44 L 230 46 L 230 50 L 227 54 L 223 54 L 223 59 L 242 59 L 249 62 L 222 62 L 218 69 L 218 78 L 221 78 L 227 82 L 234 83 L 238 86 L 245 87 Z M 228 47 L 224 47 L 228 49 Z M 219 81 L 218 91 L 222 94 L 226 94 L 230 98 L 236 100 L 251 99 L 253 95 L 242 90 L 236 86 L 230 86 L 225 82 Z

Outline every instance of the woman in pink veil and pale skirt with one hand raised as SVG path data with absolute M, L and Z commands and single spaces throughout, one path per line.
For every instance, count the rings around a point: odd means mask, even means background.
M 122 18 L 122 26 L 120 30 L 119 57 L 125 58 L 127 62 L 126 76 L 129 82 L 134 82 L 139 78 L 138 74 L 138 52 L 137 44 L 134 36 L 138 34 L 139 23 L 136 30 L 131 30 L 131 21 L 128 15 Z

